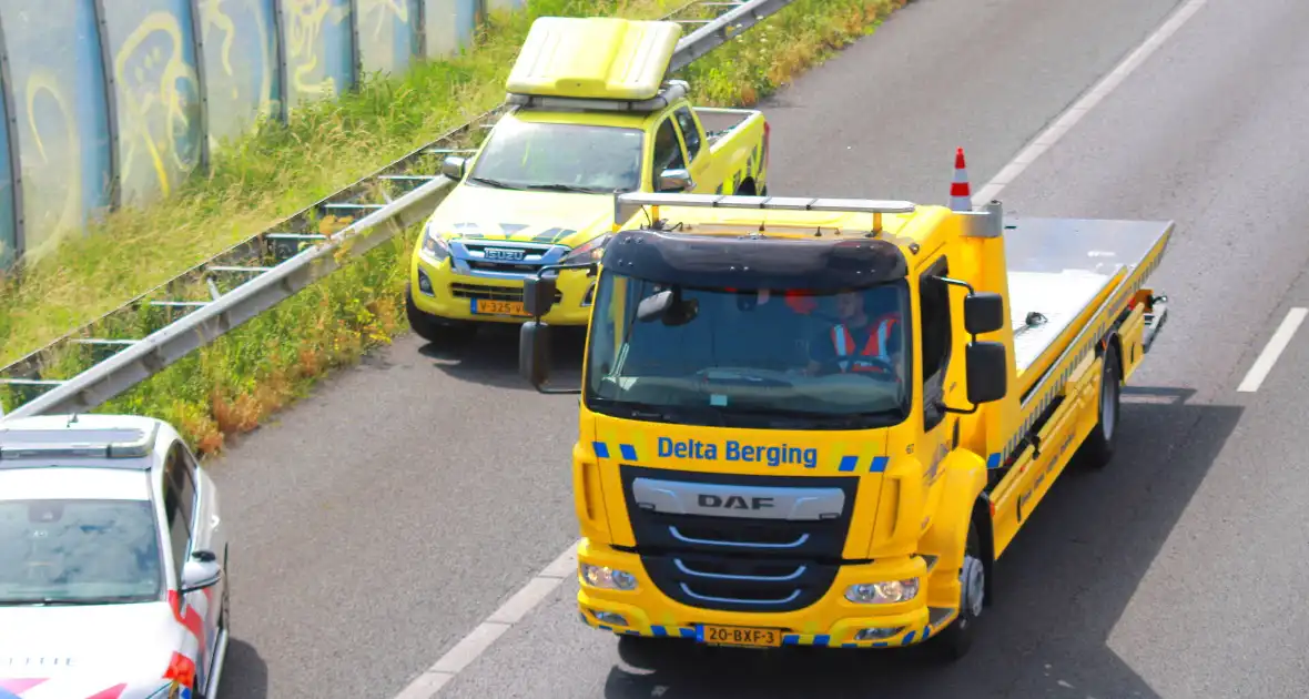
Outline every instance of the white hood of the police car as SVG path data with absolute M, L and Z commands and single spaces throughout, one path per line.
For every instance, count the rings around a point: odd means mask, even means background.
M 0 607 L 0 698 L 144 699 L 185 635 L 168 602 Z

